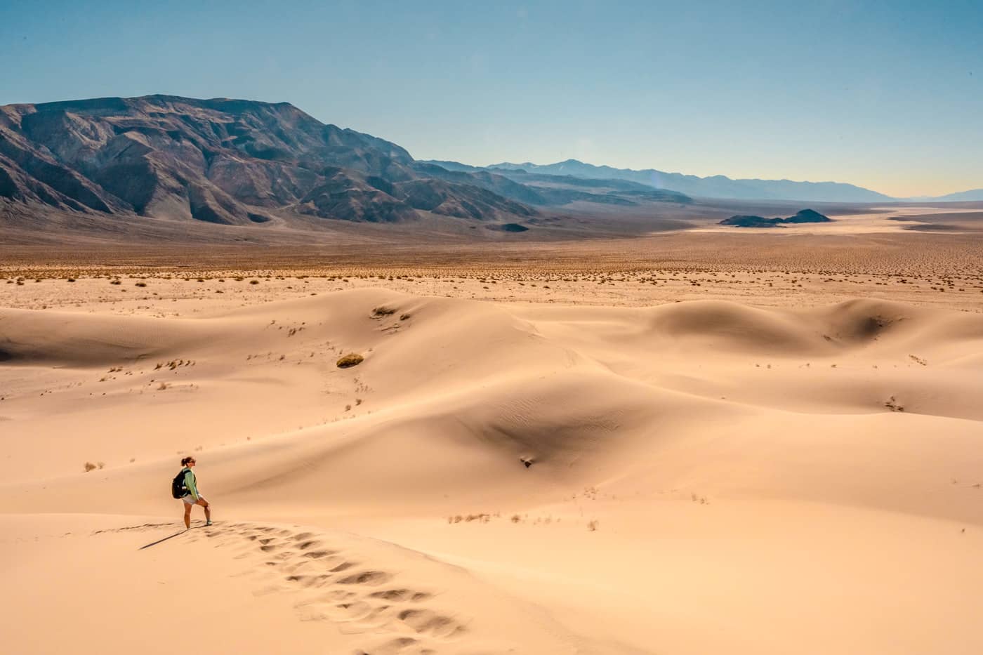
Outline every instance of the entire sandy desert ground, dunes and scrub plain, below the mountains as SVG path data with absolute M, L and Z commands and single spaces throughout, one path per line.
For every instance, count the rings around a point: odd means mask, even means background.
M 4 247 L 4 651 L 983 652 L 983 239 L 889 227 Z

